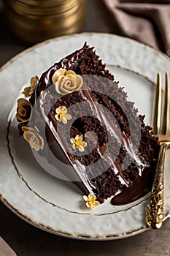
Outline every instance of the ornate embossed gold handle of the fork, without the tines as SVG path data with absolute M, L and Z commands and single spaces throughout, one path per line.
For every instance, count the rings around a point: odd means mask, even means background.
M 146 211 L 147 225 L 152 227 L 152 229 L 160 228 L 163 222 L 163 170 L 168 146 L 169 143 L 161 143 L 155 178 L 152 184 L 150 203 Z

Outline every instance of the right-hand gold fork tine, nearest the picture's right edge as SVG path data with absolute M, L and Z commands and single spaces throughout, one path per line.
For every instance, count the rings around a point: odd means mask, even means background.
M 163 109 L 163 125 L 162 134 L 167 135 L 169 133 L 169 113 L 170 113 L 170 95 L 169 95 L 169 74 L 166 72 L 166 86 L 164 94 L 164 109 Z

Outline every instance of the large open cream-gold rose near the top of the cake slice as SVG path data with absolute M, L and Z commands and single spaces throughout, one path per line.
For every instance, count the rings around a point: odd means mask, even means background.
M 55 71 L 52 80 L 57 93 L 63 95 L 79 90 L 83 83 L 80 75 L 76 75 L 72 70 L 67 71 L 62 68 Z

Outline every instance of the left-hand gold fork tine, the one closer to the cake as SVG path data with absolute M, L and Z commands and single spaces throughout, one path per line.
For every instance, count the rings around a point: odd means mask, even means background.
M 157 75 L 157 85 L 156 85 L 156 94 L 155 94 L 155 107 L 153 114 L 153 134 L 158 135 L 158 132 L 161 127 L 161 73 L 158 72 Z

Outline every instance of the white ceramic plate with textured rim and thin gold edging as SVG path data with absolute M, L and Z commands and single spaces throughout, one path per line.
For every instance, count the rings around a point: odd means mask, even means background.
M 82 192 L 71 182 L 51 176 L 37 164 L 29 146 L 18 135 L 15 118 L 10 118 L 23 84 L 81 48 L 85 41 L 96 48 L 96 53 L 114 73 L 115 80 L 125 86 L 139 113 L 146 114 L 146 123 L 151 123 L 153 83 L 158 71 L 170 71 L 167 56 L 112 34 L 74 34 L 36 45 L 0 70 L 0 196 L 12 211 L 43 230 L 89 240 L 124 238 L 147 230 L 145 208 L 149 195 L 126 206 L 111 206 L 107 200 L 94 211 L 84 208 Z M 169 214 L 168 193 L 165 200 L 166 218 Z

